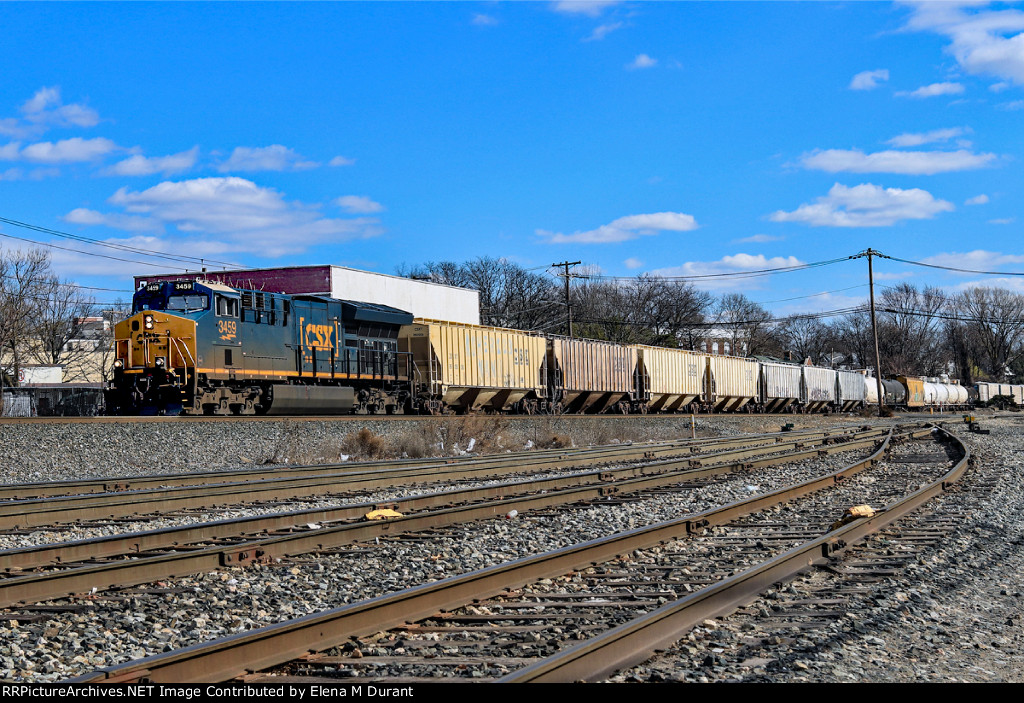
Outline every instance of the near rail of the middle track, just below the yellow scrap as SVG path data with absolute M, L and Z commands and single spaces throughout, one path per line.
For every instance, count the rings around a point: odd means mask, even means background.
M 447 527 L 454 524 L 468 523 L 475 520 L 505 515 L 510 511 L 526 513 L 531 510 L 563 506 L 566 503 L 596 500 L 610 494 L 628 494 L 679 483 L 683 480 L 705 478 L 717 474 L 742 471 L 758 467 L 766 467 L 799 460 L 801 458 L 821 454 L 850 451 L 877 443 L 874 438 L 853 440 L 828 447 L 797 450 L 787 454 L 756 460 L 750 459 L 752 451 L 740 452 L 741 459 L 731 463 L 720 463 L 705 468 L 693 468 L 676 462 L 671 468 L 659 467 L 657 471 L 645 475 L 646 467 L 630 467 L 615 471 L 588 472 L 587 475 L 570 477 L 555 477 L 537 481 L 520 481 L 505 483 L 498 486 L 482 488 L 467 488 L 461 491 L 441 491 L 421 496 L 399 499 L 389 503 L 394 508 L 409 511 L 422 510 L 414 515 L 395 518 L 387 521 L 361 521 L 338 526 L 323 526 L 321 529 L 304 530 L 286 535 L 266 537 L 244 537 L 227 544 L 215 544 L 206 547 L 184 547 L 180 552 L 161 556 L 145 556 L 139 554 L 131 559 L 113 563 L 79 566 L 48 573 L 35 573 L 25 576 L 13 576 L 0 580 L 0 607 L 10 607 L 15 604 L 38 603 L 44 600 L 63 598 L 66 596 L 89 591 L 92 588 L 106 589 L 112 586 L 135 585 L 159 579 L 173 578 L 188 574 L 213 571 L 223 567 L 242 566 L 252 562 L 270 562 L 284 557 L 318 552 L 333 548 L 355 541 L 372 539 L 386 534 L 399 534 L 422 531 L 430 528 Z M 776 446 L 768 447 L 777 451 Z M 762 450 L 763 451 L 763 450 Z M 733 452 L 735 453 L 735 452 Z M 691 460 L 692 465 L 692 460 Z M 641 474 L 640 476 L 636 476 Z M 616 480 L 618 477 L 635 476 Z M 528 493 L 523 494 L 524 490 Z M 459 496 L 467 504 L 451 507 Z M 482 500 L 483 502 L 479 502 Z M 364 516 L 375 503 L 358 503 L 332 511 L 346 519 L 356 519 Z M 429 510 L 442 506 L 439 510 Z M 424 510 L 427 509 L 427 510 Z M 265 521 L 266 517 L 248 519 L 246 522 Z M 280 520 L 280 518 L 279 518 Z M 287 520 L 287 518 L 286 518 Z M 291 525 L 294 525 L 294 518 Z M 223 523 L 219 527 L 223 527 Z M 212 526 L 211 526 L 212 527 Z M 185 528 L 188 529 L 188 528 Z M 207 526 L 191 528 L 207 532 Z M 166 538 L 165 534 L 157 535 Z M 78 552 L 92 551 L 99 546 L 123 545 L 126 539 L 139 540 L 146 537 L 145 533 L 136 535 L 116 536 L 85 540 L 69 545 Z M 128 543 L 131 543 L 130 541 Z M 0 553 L 0 565 L 14 563 L 18 557 L 34 558 L 52 556 L 59 553 L 61 545 L 44 545 L 29 547 L 25 551 Z M 118 554 L 124 554 L 120 552 Z M 20 562 L 27 563 L 26 561 Z

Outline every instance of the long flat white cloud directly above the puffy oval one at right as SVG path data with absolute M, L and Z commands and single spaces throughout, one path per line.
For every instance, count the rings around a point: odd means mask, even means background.
M 860 149 L 818 149 L 801 157 L 807 169 L 828 173 L 901 173 L 933 175 L 952 171 L 969 171 L 991 165 L 994 153 L 955 151 L 877 151 Z

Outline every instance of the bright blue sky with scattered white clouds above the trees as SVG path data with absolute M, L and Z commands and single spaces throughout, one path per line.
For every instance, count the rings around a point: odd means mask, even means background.
M 682 276 L 868 247 L 1024 270 L 1015 3 L 2 3 L 0 26 L 0 217 L 38 227 L 385 273 L 490 256 Z M 199 266 L 0 234 L 81 250 L 52 250 L 59 272 L 124 296 Z M 697 282 L 835 310 L 866 265 Z

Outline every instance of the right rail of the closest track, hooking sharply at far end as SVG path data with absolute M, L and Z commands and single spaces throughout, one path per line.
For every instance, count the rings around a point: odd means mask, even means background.
M 615 671 L 648 659 L 655 651 L 679 641 L 709 618 L 731 613 L 773 583 L 786 581 L 809 567 L 826 564 L 864 536 L 878 532 L 948 490 L 973 460 L 971 451 L 952 433 L 962 458 L 938 480 L 879 511 L 874 517 L 855 521 L 790 550 L 763 564 L 728 577 L 678 601 L 669 603 L 587 642 L 514 671 L 502 683 L 568 683 L 600 680 Z

